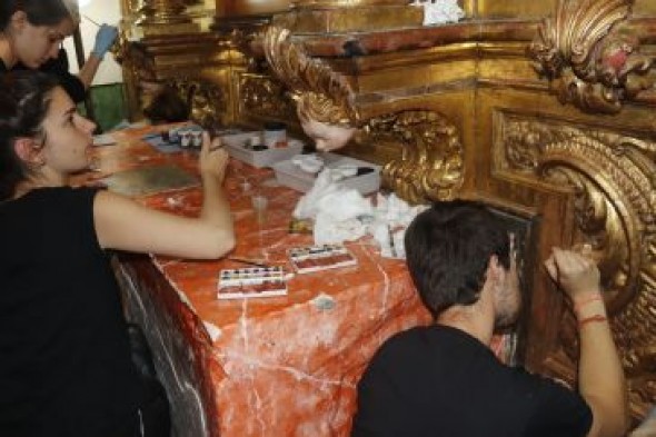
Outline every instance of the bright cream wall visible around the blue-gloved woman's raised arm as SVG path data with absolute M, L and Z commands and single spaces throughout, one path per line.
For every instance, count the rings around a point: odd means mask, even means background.
M 93 48 L 93 41 L 96 40 L 96 32 L 98 31 L 98 27 L 93 24 L 89 19 L 96 21 L 99 24 L 108 23 L 116 26 L 120 18 L 120 1 L 119 0 L 78 0 L 81 4 L 80 7 L 80 14 L 82 16 L 82 21 L 80 22 L 80 31 L 82 33 L 82 43 L 85 46 L 85 59 L 89 57 L 89 52 Z M 85 3 L 88 3 L 85 6 Z M 86 17 L 89 17 L 87 19 Z M 72 38 L 68 38 L 63 47 L 68 51 L 68 57 L 70 61 L 70 71 L 76 73 L 78 71 L 78 63 L 76 61 L 76 51 L 73 48 Z M 111 53 L 108 53 L 105 57 L 105 60 L 100 64 L 98 69 L 98 73 L 93 78 L 93 85 L 106 85 L 106 83 L 117 83 L 122 82 L 123 77 L 121 73 L 121 68 L 116 61 Z

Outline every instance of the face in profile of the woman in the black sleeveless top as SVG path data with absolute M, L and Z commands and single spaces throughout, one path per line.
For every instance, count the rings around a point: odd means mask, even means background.
M 46 166 L 58 175 L 70 175 L 89 167 L 96 123 L 80 116 L 76 105 L 61 87 L 52 90 L 50 107 L 43 120 L 42 148 Z

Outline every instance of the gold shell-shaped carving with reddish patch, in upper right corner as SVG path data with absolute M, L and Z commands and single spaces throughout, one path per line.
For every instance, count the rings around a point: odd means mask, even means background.
M 555 21 L 545 19 L 529 47 L 535 68 L 563 103 L 615 113 L 623 101 L 650 88 L 654 59 L 639 53 L 634 36 L 616 24 L 634 0 L 559 0 Z

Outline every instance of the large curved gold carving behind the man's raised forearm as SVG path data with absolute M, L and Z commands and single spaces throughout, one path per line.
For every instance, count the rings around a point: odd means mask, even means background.
M 575 238 L 593 246 L 604 272 L 615 340 L 640 416 L 656 398 L 656 142 L 514 117 L 505 118 L 501 138 L 497 168 L 573 188 Z M 574 360 L 574 318 L 563 317 L 563 351 Z

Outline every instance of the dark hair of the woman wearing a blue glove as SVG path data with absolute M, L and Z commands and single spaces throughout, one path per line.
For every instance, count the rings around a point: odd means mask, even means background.
M 54 26 L 71 17 L 62 0 L 2 0 L 0 1 L 0 31 L 9 26 L 11 17 L 23 11 L 32 26 Z

